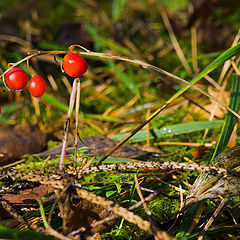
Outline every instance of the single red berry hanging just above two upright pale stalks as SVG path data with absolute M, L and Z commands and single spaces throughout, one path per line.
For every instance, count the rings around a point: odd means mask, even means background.
M 63 58 L 63 68 L 70 77 L 80 77 L 87 71 L 88 64 L 79 54 L 68 53 Z

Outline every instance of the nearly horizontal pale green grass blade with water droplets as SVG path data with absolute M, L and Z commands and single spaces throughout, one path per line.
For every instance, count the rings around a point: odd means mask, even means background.
M 184 133 L 191 133 L 195 131 L 204 130 L 206 128 L 218 127 L 223 124 L 223 120 L 215 120 L 215 121 L 198 121 L 198 122 L 189 122 L 189 123 L 181 123 L 175 124 L 171 126 L 164 126 L 160 129 L 151 129 L 150 131 L 150 140 L 159 139 L 162 137 L 169 137 L 173 135 L 179 135 Z M 114 140 L 121 141 L 123 140 L 129 133 L 119 134 L 114 137 Z M 146 141 L 147 133 L 145 130 L 140 130 L 136 133 L 132 138 L 131 142 L 143 142 Z

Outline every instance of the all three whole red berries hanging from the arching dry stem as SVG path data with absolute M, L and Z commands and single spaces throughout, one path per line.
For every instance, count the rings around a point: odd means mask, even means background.
M 73 52 L 65 55 L 62 66 L 66 74 L 71 77 L 80 77 L 88 69 L 88 64 L 84 58 Z M 10 88 L 22 91 L 27 86 L 28 75 L 22 69 L 14 67 L 6 73 L 5 80 Z M 28 83 L 28 90 L 33 97 L 41 97 L 46 91 L 44 79 L 38 75 L 32 77 Z

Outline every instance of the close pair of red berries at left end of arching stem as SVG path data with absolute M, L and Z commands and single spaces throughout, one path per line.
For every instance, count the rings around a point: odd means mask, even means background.
M 27 86 L 28 75 L 22 69 L 14 67 L 6 73 L 5 80 L 10 88 L 22 91 Z M 28 90 L 33 97 L 41 97 L 46 91 L 46 83 L 40 76 L 34 76 L 29 81 Z

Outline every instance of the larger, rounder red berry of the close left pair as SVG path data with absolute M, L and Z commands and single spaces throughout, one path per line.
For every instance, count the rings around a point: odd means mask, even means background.
M 22 69 L 15 67 L 6 73 L 5 80 L 10 88 L 21 91 L 27 86 L 28 75 Z

